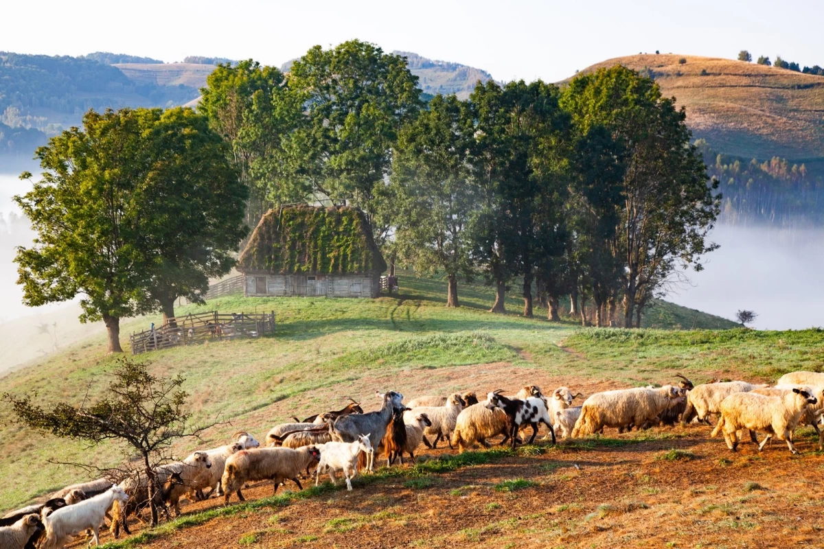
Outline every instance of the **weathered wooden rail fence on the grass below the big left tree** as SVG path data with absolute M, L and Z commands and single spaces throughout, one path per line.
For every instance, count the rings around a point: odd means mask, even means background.
M 157 349 L 238 337 L 260 337 L 266 333 L 274 333 L 274 311 L 262 314 L 211 311 L 187 314 L 169 319 L 160 328 L 135 332 L 129 336 L 129 343 L 132 354 L 140 355 Z

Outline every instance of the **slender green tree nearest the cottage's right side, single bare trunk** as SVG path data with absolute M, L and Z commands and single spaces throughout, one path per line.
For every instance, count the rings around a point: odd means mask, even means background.
M 458 277 L 471 277 L 467 225 L 477 188 L 467 164 L 472 138 L 466 105 L 436 95 L 401 132 L 393 156 L 395 244 L 416 272 L 447 274 L 447 307 L 457 307 Z

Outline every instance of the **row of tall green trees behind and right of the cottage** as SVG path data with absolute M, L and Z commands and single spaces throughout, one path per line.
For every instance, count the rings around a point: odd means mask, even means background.
M 569 294 L 596 305 L 583 322 L 630 327 L 714 249 L 720 196 L 686 114 L 624 67 L 424 104 L 405 58 L 353 40 L 287 74 L 218 66 L 199 109 L 232 144 L 250 224 L 307 197 L 358 206 L 385 251 L 446 274 L 448 306 L 483 277 L 503 312 L 517 280 L 526 316 L 537 298 L 557 319 Z

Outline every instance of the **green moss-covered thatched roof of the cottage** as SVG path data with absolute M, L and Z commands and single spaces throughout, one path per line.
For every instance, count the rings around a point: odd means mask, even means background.
M 362 212 L 306 205 L 269 210 L 241 253 L 237 270 L 346 274 L 383 272 L 386 262 Z

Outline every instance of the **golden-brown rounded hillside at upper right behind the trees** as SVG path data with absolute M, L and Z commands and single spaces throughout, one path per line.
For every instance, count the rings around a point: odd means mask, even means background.
M 678 63 L 685 58 L 686 63 Z M 662 93 L 686 106 L 695 137 L 745 158 L 824 156 L 824 77 L 722 58 L 644 54 L 587 67 L 652 71 Z M 705 74 L 702 74 L 705 72 Z

